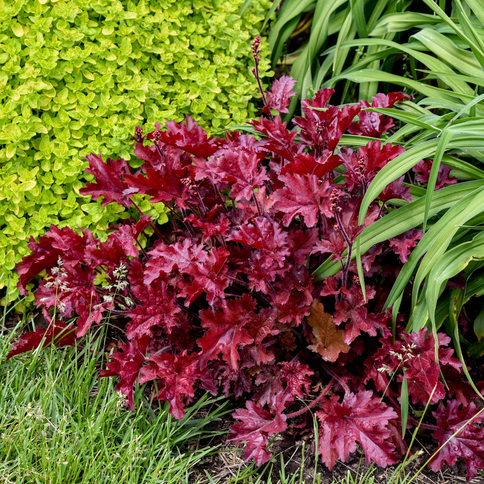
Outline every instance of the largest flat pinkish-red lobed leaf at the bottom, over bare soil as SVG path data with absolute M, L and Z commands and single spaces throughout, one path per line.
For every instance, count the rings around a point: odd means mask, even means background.
M 333 395 L 329 400 L 322 399 L 321 407 L 316 412 L 320 422 L 318 451 L 329 470 L 336 459 L 347 462 L 357 442 L 363 447 L 368 464 L 373 460 L 386 467 L 398 460 L 395 446 L 388 442 L 387 427 L 388 421 L 397 414 L 380 397 L 374 397 L 373 392 L 349 393 L 342 404 Z

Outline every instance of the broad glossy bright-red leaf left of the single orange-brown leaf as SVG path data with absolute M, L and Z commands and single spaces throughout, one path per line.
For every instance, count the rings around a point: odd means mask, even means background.
M 241 298 L 227 300 L 226 307 L 215 313 L 208 309 L 200 311 L 202 326 L 208 328 L 205 336 L 197 340 L 202 348 L 202 368 L 208 360 L 217 359 L 219 355 L 222 355 L 232 371 L 238 368 L 239 349 L 254 341 L 244 328 L 254 308 L 254 300 L 246 293 Z

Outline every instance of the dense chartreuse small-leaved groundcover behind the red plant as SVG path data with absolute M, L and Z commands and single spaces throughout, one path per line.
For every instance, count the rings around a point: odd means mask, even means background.
M 137 124 L 192 114 L 217 129 L 255 113 L 247 43 L 257 0 L 0 2 L 0 288 L 51 224 L 101 234 L 120 207 L 79 194 L 91 152 L 129 159 Z M 262 60 L 261 68 L 267 71 Z M 136 163 L 136 160 L 135 160 Z M 134 198 L 153 220 L 163 204 Z M 13 284 L 11 287 L 15 289 Z

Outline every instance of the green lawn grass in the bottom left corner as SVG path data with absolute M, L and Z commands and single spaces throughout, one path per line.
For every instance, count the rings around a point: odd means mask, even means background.
M 137 410 L 123 408 L 113 382 L 98 379 L 102 332 L 67 351 L 51 346 L 6 362 L 15 336 L 0 339 L 3 482 L 178 484 L 216 450 L 195 448 L 212 434 L 205 426 L 223 415 L 220 402 L 202 397 L 179 421 L 137 387 Z M 200 417 L 208 408 L 211 415 Z

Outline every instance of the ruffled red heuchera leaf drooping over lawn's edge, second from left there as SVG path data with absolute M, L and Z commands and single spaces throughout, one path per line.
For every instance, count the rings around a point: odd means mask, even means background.
M 182 419 L 185 416 L 182 398 L 195 395 L 193 386 L 200 374 L 197 369 L 198 355 L 187 355 L 186 351 L 180 355 L 162 353 L 150 356 L 146 362 L 148 366 L 141 368 L 139 383 L 156 380 L 156 399 L 168 400 L 170 413 Z

